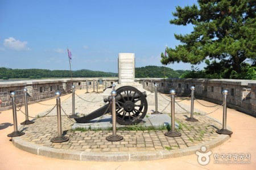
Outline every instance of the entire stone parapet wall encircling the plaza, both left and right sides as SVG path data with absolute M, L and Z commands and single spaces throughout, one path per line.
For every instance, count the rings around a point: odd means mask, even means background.
M 154 92 L 155 83 L 158 84 L 159 92 L 168 93 L 170 89 L 175 89 L 177 95 L 191 94 L 191 86 L 195 86 L 195 97 L 222 103 L 222 91 L 229 91 L 227 105 L 248 114 L 256 116 L 256 80 L 230 80 L 230 79 L 159 79 L 159 78 L 140 78 L 136 82 L 143 84 L 145 90 Z M 94 82 L 94 83 L 93 83 Z M 73 84 L 76 89 L 102 91 L 104 88 L 118 82 L 118 78 L 76 78 Z M 71 79 L 60 80 L 32 80 L 20 82 L 1 82 L 0 99 L 2 100 L 0 111 L 11 108 L 10 92 L 16 91 L 16 104 L 24 103 L 23 89 L 28 89 L 28 103 L 33 101 L 43 101 L 55 97 L 55 92 L 60 91 L 62 95 L 71 93 Z M 34 102 L 33 102 L 34 103 Z

